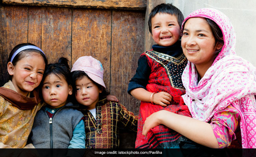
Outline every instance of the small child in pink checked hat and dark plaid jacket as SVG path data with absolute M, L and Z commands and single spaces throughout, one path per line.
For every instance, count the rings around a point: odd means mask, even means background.
M 137 131 L 137 116 L 106 99 L 103 74 L 102 64 L 91 56 L 78 58 L 71 69 L 74 95 L 84 115 L 86 148 L 118 148 L 119 128 Z

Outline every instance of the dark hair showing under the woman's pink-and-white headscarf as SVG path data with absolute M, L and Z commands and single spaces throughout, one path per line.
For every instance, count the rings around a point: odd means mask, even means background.
M 216 44 L 222 44 L 224 46 L 223 34 L 220 27 L 213 20 L 209 18 L 205 18 L 205 19 L 211 28 L 213 37 L 215 38 L 215 46 Z M 218 49 L 214 52 L 214 58 L 216 58 L 219 55 L 219 53 L 221 52 L 221 49 Z

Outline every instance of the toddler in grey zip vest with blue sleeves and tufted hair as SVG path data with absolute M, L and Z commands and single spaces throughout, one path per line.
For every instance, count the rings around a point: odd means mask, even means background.
M 83 114 L 68 99 L 71 81 L 66 58 L 47 66 L 41 84 L 46 106 L 38 111 L 31 131 L 35 148 L 85 148 Z

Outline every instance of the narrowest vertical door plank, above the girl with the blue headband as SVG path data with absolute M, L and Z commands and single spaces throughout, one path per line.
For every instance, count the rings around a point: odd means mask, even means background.
M 42 7 L 28 7 L 28 42 L 41 48 Z

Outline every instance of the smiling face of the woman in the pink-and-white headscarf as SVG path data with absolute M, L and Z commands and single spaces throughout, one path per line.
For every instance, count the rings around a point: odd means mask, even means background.
M 189 18 L 184 25 L 181 40 L 187 60 L 196 66 L 210 68 L 214 61 L 214 52 L 222 45 L 215 44 L 215 38 L 205 18 Z

